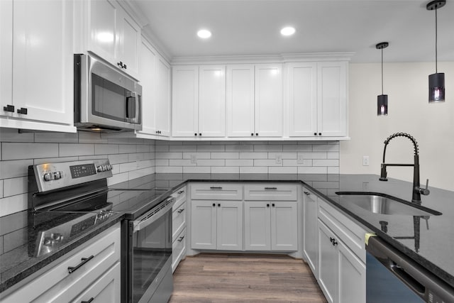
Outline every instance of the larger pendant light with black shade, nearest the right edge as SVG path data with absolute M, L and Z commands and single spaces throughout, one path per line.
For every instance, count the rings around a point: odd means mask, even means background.
M 437 69 L 437 9 L 445 4 L 445 0 L 434 0 L 426 6 L 428 11 L 435 10 L 435 74 L 428 75 L 428 103 L 445 101 L 445 73 Z

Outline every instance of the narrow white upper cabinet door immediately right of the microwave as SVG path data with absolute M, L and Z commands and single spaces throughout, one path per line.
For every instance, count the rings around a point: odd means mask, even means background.
M 140 133 L 155 134 L 155 92 L 157 83 L 156 51 L 145 41 L 140 44 L 140 85 L 142 85 L 142 131 Z

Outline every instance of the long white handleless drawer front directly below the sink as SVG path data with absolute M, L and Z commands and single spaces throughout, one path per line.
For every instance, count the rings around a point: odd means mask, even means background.
M 322 199 L 319 199 L 318 216 L 362 262 L 366 262 L 364 229 Z

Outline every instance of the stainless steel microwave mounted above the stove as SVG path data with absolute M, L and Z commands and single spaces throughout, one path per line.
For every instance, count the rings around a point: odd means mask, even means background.
M 92 55 L 74 55 L 74 125 L 82 131 L 140 131 L 142 87 Z

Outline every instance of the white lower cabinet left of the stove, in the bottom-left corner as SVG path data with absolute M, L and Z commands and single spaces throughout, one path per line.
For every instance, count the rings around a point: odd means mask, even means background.
M 2 298 L 2 302 L 120 302 L 120 223 Z M 71 254 L 71 253 L 70 253 Z M 73 272 L 68 268 L 75 268 Z M 26 282 L 26 281 L 24 281 Z

